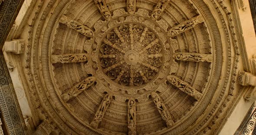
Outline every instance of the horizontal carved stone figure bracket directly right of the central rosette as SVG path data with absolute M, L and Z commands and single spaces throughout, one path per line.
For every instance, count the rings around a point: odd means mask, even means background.
M 209 54 L 178 52 L 174 58 L 179 61 L 212 62 L 213 56 Z

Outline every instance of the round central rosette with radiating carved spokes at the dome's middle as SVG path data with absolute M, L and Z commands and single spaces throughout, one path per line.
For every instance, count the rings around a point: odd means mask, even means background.
M 148 27 L 133 23 L 117 26 L 102 41 L 101 66 L 115 83 L 141 86 L 160 71 L 163 47 Z

